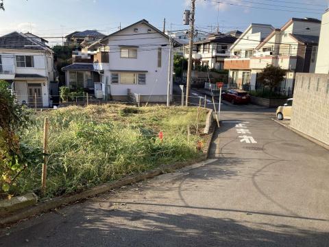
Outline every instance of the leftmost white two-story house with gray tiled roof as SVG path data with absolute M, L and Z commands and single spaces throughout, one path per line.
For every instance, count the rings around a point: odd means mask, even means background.
M 20 104 L 49 107 L 53 51 L 32 34 L 12 32 L 0 37 L 0 80 L 10 84 Z

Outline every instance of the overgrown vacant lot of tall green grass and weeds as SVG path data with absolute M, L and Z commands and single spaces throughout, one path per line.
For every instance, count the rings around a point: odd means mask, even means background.
M 200 110 L 199 133 L 206 114 Z M 50 122 L 47 197 L 195 158 L 200 154 L 196 143 L 205 138 L 196 133 L 196 108 L 117 104 L 33 113 L 33 123 L 22 134 L 24 143 L 42 147 L 44 117 Z M 158 138 L 160 131 L 163 141 Z M 35 191 L 40 195 L 41 169 L 41 164 L 28 167 L 11 192 Z

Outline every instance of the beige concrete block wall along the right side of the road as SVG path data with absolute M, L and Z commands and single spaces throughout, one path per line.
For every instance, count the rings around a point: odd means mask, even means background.
M 297 73 L 291 127 L 329 145 L 329 75 Z

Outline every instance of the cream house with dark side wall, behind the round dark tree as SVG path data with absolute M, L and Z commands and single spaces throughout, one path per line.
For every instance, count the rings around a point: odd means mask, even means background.
M 280 91 L 289 95 L 297 72 L 314 73 L 321 21 L 313 18 L 293 18 L 273 30 L 254 50 L 250 60 L 251 86 L 257 85 L 257 75 L 267 64 L 287 70 Z

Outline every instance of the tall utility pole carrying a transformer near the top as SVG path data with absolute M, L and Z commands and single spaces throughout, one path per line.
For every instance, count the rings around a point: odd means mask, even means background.
M 192 52 L 194 38 L 194 16 L 195 16 L 195 0 L 191 0 L 191 21 L 190 21 L 190 42 L 188 43 L 188 67 L 186 80 L 186 106 L 188 106 L 188 97 L 190 96 L 191 75 L 192 75 Z

